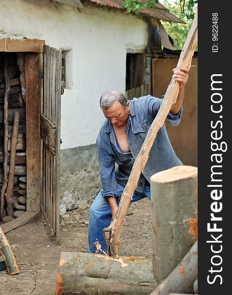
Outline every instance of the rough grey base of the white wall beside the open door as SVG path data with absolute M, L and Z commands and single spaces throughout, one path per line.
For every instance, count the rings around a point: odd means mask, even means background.
M 92 203 L 101 189 L 96 145 L 61 149 L 60 205 Z

